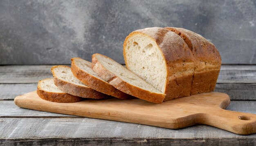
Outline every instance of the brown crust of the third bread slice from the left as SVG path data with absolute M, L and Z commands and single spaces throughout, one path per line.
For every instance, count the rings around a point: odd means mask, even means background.
M 93 75 L 90 75 L 90 73 L 85 72 L 83 69 L 80 69 L 79 66 L 76 65 L 75 60 L 81 59 L 81 58 L 72 58 L 71 61 L 71 71 L 73 75 L 79 79 L 83 84 L 86 84 L 90 88 L 99 91 L 101 93 L 104 93 L 106 95 L 110 95 L 113 97 L 117 97 L 119 99 L 128 99 L 131 96 L 119 91 L 117 88 L 109 84 L 108 82 L 105 82 L 103 80 L 100 80 L 97 77 L 94 77 Z

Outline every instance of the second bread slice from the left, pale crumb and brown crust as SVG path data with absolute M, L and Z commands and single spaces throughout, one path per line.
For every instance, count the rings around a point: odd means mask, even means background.
M 69 66 L 53 66 L 51 71 L 54 77 L 54 84 L 65 93 L 93 99 L 108 97 L 108 95 L 95 91 L 76 79 Z

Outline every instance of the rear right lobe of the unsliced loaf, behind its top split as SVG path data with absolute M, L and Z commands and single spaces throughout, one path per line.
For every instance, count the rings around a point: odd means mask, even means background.
M 218 49 L 201 35 L 187 29 L 165 28 L 178 34 L 188 44 L 195 58 L 190 95 L 213 91 L 221 66 L 221 57 Z

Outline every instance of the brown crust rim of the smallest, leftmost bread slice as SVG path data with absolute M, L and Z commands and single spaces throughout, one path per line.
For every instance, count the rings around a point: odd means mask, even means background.
M 53 79 L 45 79 L 45 80 L 53 80 Z M 40 80 L 41 82 L 43 80 Z M 38 82 L 38 84 L 39 84 Z M 43 100 L 47 100 L 50 102 L 61 102 L 61 103 L 73 103 L 73 102 L 80 102 L 83 100 L 82 97 L 77 97 L 74 95 L 70 95 L 67 93 L 56 93 L 56 92 L 49 92 L 45 91 L 42 87 L 38 86 L 36 93 L 40 98 Z

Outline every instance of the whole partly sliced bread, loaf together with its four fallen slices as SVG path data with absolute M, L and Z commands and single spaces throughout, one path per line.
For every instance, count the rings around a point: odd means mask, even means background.
M 53 79 L 38 82 L 38 95 L 52 102 L 116 97 L 162 103 L 214 90 L 221 66 L 218 49 L 192 31 L 152 27 L 124 41 L 126 67 L 101 54 L 92 62 L 72 58 L 53 66 Z

